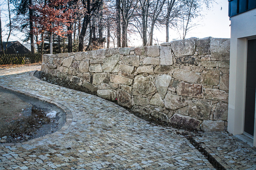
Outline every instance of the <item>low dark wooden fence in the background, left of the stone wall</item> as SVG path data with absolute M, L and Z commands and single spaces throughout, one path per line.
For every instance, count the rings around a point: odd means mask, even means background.
M 0 55 L 0 65 L 31 64 L 40 62 L 40 54 L 6 54 Z

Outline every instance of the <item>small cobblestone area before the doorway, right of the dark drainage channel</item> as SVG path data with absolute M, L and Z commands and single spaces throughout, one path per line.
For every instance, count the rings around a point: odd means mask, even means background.
M 195 141 L 226 169 L 256 170 L 256 150 L 226 132 L 199 132 Z

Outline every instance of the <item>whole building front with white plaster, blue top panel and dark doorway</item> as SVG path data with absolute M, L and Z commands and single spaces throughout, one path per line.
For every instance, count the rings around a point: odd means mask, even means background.
M 256 146 L 256 0 L 228 0 L 231 20 L 228 132 Z

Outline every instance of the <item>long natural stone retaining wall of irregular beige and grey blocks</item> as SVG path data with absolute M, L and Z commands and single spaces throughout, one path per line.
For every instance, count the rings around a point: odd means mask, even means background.
M 230 39 L 44 55 L 42 71 L 132 111 L 189 129 L 227 125 Z

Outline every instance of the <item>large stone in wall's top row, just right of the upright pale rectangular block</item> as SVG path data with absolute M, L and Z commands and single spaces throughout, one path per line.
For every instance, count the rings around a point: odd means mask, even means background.
M 196 52 L 196 40 L 197 38 L 192 37 L 170 42 L 174 55 L 176 57 L 194 55 Z

